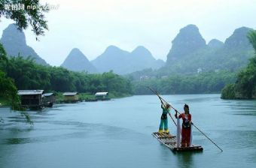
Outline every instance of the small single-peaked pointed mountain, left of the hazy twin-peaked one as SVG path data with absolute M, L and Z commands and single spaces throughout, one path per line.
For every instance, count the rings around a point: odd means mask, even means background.
M 70 71 L 97 72 L 96 68 L 90 63 L 87 57 L 77 48 L 72 49 L 61 66 Z

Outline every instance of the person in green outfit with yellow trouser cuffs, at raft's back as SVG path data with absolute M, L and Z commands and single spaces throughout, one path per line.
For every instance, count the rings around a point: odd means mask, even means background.
M 168 118 L 167 118 L 167 114 L 170 111 L 170 106 L 169 104 L 163 104 L 163 102 L 161 102 L 161 108 L 163 110 L 163 113 L 161 115 L 161 121 L 160 121 L 160 126 L 159 126 L 159 133 L 169 133 L 169 129 L 168 129 Z

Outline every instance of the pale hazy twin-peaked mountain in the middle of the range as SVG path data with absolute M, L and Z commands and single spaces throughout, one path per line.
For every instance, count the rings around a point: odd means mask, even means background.
M 157 69 L 164 65 L 163 61 L 156 60 L 144 46 L 138 46 L 133 52 L 108 46 L 92 63 L 99 72 L 114 71 L 117 74 L 129 74 L 145 68 Z

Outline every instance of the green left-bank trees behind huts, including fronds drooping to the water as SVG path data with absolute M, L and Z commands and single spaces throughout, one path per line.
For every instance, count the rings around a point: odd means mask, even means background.
M 26 121 L 32 123 L 28 113 L 20 106 L 17 89 L 44 89 L 46 92 L 86 92 L 81 99 L 94 98 L 96 92 L 110 92 L 111 98 L 132 94 L 129 80 L 113 72 L 86 74 L 65 68 L 37 65 L 31 58 L 8 58 L 0 43 L 0 103 L 19 110 Z

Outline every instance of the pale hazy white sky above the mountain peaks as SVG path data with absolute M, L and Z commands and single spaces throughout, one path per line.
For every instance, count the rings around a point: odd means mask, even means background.
M 89 60 L 109 45 L 132 51 L 145 46 L 166 60 L 180 28 L 195 24 L 208 43 L 224 42 L 234 29 L 256 29 L 256 0 L 44 0 L 53 5 L 49 31 L 40 41 L 27 28 L 26 42 L 50 65 L 59 66 L 77 47 Z M 2 18 L 2 30 L 11 20 Z

